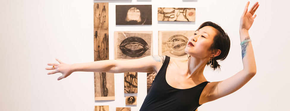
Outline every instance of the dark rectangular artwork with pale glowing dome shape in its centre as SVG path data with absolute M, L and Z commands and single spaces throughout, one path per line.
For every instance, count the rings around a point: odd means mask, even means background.
M 152 5 L 116 5 L 116 25 L 152 25 Z

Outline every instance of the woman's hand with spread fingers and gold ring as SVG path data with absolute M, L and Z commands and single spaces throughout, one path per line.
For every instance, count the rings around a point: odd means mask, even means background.
M 55 73 L 62 73 L 62 76 L 57 78 L 57 80 L 61 80 L 61 79 L 66 78 L 67 76 L 69 76 L 70 74 L 73 73 L 72 65 L 66 64 L 66 63 L 60 61 L 59 59 L 56 59 L 56 61 L 59 62 L 59 64 L 58 63 L 48 63 L 47 64 L 47 65 L 53 66 L 53 67 L 45 68 L 46 70 L 53 70 L 53 71 L 47 73 L 48 75 L 55 74 Z

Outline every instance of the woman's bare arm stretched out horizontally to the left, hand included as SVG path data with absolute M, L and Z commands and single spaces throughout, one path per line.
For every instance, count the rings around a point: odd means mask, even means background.
M 84 72 L 108 72 L 108 73 L 124 73 L 124 72 L 155 72 L 157 73 L 164 62 L 165 56 L 153 55 L 140 59 L 130 60 L 101 60 L 87 63 L 66 64 L 56 59 L 59 63 L 48 63 L 54 66 L 45 68 L 53 70 L 48 73 L 62 73 L 57 80 L 66 78 L 76 71 Z

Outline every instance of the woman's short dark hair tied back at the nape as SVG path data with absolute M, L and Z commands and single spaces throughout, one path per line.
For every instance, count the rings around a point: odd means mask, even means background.
M 213 22 L 202 23 L 198 30 L 205 26 L 211 26 L 216 29 L 216 35 L 213 39 L 213 43 L 210 49 L 213 51 L 220 49 L 220 55 L 212 59 L 214 62 L 213 70 L 216 70 L 217 68 L 220 69 L 220 65 L 218 64 L 217 60 L 224 60 L 228 56 L 228 52 L 231 46 L 230 38 L 228 37 L 228 34 L 220 27 L 220 25 Z M 209 65 L 209 63 L 207 63 L 207 65 Z

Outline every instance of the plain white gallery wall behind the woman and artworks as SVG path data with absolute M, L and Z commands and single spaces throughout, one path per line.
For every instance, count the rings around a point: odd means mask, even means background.
M 94 100 L 94 74 L 75 72 L 57 81 L 46 75 L 55 58 L 73 64 L 94 61 L 93 5 L 109 2 L 109 55 L 114 59 L 114 31 L 153 31 L 158 54 L 159 30 L 196 30 L 206 21 L 218 23 L 231 39 L 221 71 L 206 68 L 208 81 L 222 81 L 242 70 L 239 19 L 247 0 L 1 0 L 0 111 L 92 111 L 95 105 L 126 107 L 124 75 L 115 74 L 115 100 Z M 250 6 L 255 1 L 250 0 Z M 119 25 L 116 5 L 152 5 L 152 25 Z M 257 74 L 244 87 L 208 102 L 199 111 L 289 110 L 290 1 L 260 0 L 249 33 Z M 158 22 L 157 7 L 196 8 L 196 22 Z M 130 94 L 129 94 L 130 95 Z M 146 96 L 146 73 L 138 73 L 138 111 Z

